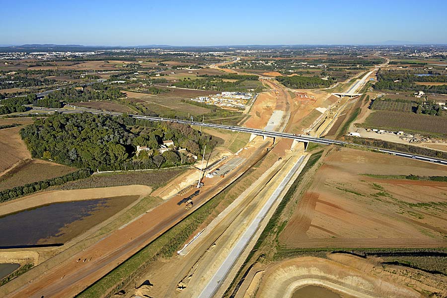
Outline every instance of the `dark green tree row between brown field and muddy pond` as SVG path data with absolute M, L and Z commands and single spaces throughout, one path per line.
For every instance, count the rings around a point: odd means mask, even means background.
M 33 192 L 46 189 L 50 186 L 62 185 L 68 181 L 74 181 L 77 179 L 84 179 L 90 177 L 92 171 L 90 169 L 79 169 L 76 172 L 56 177 L 52 179 L 45 179 L 33 183 L 28 183 L 22 186 L 17 186 L 11 189 L 5 189 L 0 191 L 0 202 L 15 199 L 22 195 L 28 195 Z

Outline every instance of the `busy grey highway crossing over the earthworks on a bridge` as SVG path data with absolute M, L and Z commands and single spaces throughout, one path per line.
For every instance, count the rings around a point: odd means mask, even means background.
M 108 112 L 108 111 L 100 111 L 100 110 L 94 110 L 94 109 L 88 109 L 88 108 L 78 108 L 79 110 L 65 110 L 65 109 L 53 109 L 53 108 L 39 108 L 39 107 L 32 107 L 35 111 L 40 112 L 58 112 L 58 113 L 91 113 L 91 114 L 97 114 L 97 115 L 110 115 L 110 116 L 122 116 L 122 113 L 117 112 Z M 399 151 L 393 151 L 393 150 L 385 150 L 377 147 L 372 146 L 365 146 L 365 145 L 359 145 L 355 143 L 350 142 L 343 142 L 343 141 L 337 141 L 337 140 L 331 140 L 331 139 L 325 139 L 321 137 L 314 137 L 310 135 L 303 135 L 303 134 L 292 134 L 287 132 L 279 132 L 279 131 L 269 131 L 269 130 L 262 130 L 262 129 L 256 129 L 256 128 L 248 128 L 248 127 L 241 127 L 241 126 L 229 126 L 229 125 L 222 125 L 222 124 L 213 124 L 213 123 L 205 123 L 205 122 L 198 122 L 198 121 L 189 121 L 189 120 L 181 120 L 181 119 L 169 119 L 169 118 L 160 118 L 160 117 L 149 117 L 149 116 L 142 116 L 142 115 L 133 115 L 129 114 L 130 117 L 136 118 L 136 119 L 145 119 L 150 121 L 164 121 L 164 122 L 176 122 L 176 123 L 183 123 L 183 124 L 189 124 L 189 125 L 197 125 L 197 126 L 204 126 L 204 127 L 211 127 L 211 128 L 219 128 L 219 129 L 226 129 L 231 131 L 239 131 L 239 132 L 246 132 L 246 133 L 252 133 L 255 135 L 265 136 L 265 137 L 272 137 L 272 138 L 288 138 L 293 139 L 298 142 L 311 142 L 311 143 L 317 143 L 317 144 L 323 144 L 323 145 L 330 145 L 330 144 L 339 144 L 339 145 L 352 145 L 356 147 L 361 148 L 368 148 L 377 150 L 379 152 L 388 153 L 396 156 L 401 156 L 405 158 L 412 158 L 420 161 L 425 162 L 431 162 L 431 163 L 437 163 L 447 166 L 447 161 L 435 157 L 425 157 L 421 155 L 415 155 L 415 154 L 409 154 L 409 153 L 402 153 Z

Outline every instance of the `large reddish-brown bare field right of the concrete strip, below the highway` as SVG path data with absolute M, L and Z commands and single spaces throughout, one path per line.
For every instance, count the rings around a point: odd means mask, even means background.
M 279 236 L 284 249 L 445 247 L 447 182 L 382 175 L 445 176 L 446 168 L 352 149 L 331 149 Z M 371 175 L 371 176 L 368 176 Z

